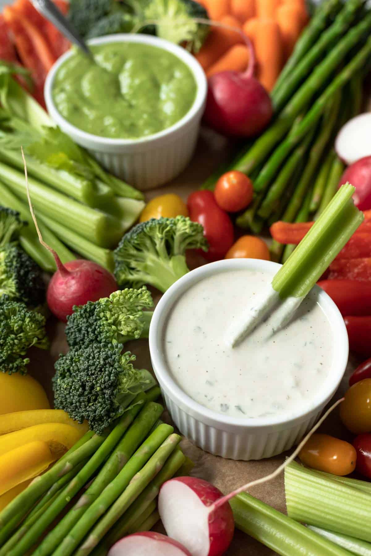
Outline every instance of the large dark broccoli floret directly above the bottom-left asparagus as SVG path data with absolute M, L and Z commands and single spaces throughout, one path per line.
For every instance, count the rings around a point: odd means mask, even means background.
M 95 433 L 102 434 L 136 394 L 155 384 L 148 371 L 133 368 L 135 355 L 121 352 L 122 344 L 91 344 L 61 355 L 52 379 L 55 408 L 79 423 L 86 419 Z

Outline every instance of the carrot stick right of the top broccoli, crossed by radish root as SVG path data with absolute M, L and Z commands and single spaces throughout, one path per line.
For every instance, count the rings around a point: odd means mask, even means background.
M 222 17 L 220 23 L 235 27 L 236 29 L 241 29 L 238 19 L 232 16 Z M 196 59 L 206 71 L 231 46 L 243 42 L 244 39 L 241 33 L 237 31 L 231 31 L 231 29 L 224 29 L 222 27 L 212 27 L 205 43 L 202 45 L 200 51 L 197 52 Z

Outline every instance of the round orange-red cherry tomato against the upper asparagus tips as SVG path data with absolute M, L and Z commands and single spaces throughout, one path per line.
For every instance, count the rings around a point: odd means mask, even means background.
M 227 212 L 246 209 L 253 199 L 253 193 L 253 182 L 238 170 L 220 176 L 214 191 L 217 204 Z

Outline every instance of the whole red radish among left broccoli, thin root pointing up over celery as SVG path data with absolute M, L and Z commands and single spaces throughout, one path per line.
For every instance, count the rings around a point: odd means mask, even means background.
M 27 167 L 23 149 L 22 157 L 29 210 L 36 227 L 38 239 L 41 245 L 51 252 L 57 265 L 57 270 L 48 285 L 46 300 L 51 312 L 58 319 L 66 322 L 67 315 L 72 315 L 74 305 L 85 305 L 87 301 L 97 301 L 101 297 L 109 297 L 113 291 L 118 290 L 117 282 L 111 272 L 103 269 L 96 262 L 78 259 L 66 262 L 63 265 L 55 250 L 43 241 L 29 196 Z

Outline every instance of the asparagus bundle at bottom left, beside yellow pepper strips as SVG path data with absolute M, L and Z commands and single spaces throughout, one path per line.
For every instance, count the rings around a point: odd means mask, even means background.
M 172 476 L 188 474 L 180 436 L 159 421 L 155 386 L 138 394 L 111 430 L 89 431 L 50 470 L 0 513 L 0 555 L 94 554 L 118 539 L 149 530 L 159 519 L 157 494 Z M 67 504 L 72 508 L 44 536 Z

